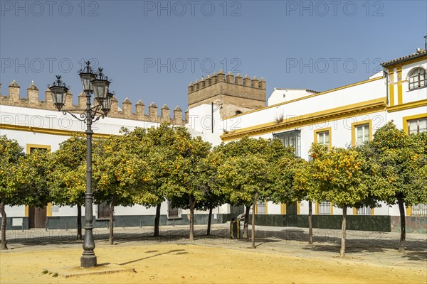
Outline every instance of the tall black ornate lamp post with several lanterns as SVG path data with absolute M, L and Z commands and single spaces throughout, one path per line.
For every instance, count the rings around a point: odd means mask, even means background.
M 85 62 L 86 67 L 80 70 L 79 76 L 86 94 L 85 109 L 63 109 L 63 114 L 70 114 L 75 119 L 86 123 L 86 194 L 85 194 L 85 240 L 83 241 L 83 255 L 80 258 L 81 267 L 96 266 L 95 241 L 93 240 L 93 192 L 92 192 L 92 124 L 100 118 L 107 116 L 111 108 L 113 94 L 108 91 L 110 80 L 102 73 L 102 68 L 98 68 L 95 73 L 90 67 L 90 61 Z M 56 76 L 56 81 L 49 86 L 52 93 L 53 104 L 61 111 L 65 104 L 65 97 L 68 87 Z M 91 104 L 92 94 L 95 97 L 93 106 Z M 70 111 L 81 111 L 80 116 L 72 114 Z

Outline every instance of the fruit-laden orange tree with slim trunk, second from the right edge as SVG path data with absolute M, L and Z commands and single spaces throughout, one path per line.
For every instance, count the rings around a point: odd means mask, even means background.
M 342 208 L 341 258 L 345 256 L 347 208 L 364 202 L 369 195 L 362 163 L 363 156 L 351 148 L 332 148 L 312 162 L 312 179 L 318 186 L 310 195 Z

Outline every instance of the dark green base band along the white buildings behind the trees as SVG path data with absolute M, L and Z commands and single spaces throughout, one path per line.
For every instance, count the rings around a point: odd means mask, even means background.
M 194 224 L 208 224 L 208 214 L 195 214 Z M 219 214 L 218 219 L 212 218 L 212 224 L 221 224 L 230 221 L 233 217 L 231 214 Z M 12 226 L 12 219 L 7 217 L 6 230 L 28 229 L 28 217 L 20 217 L 23 220 L 23 226 Z M 0 218 L 1 222 L 1 218 Z M 251 222 L 251 216 L 249 217 Z M 300 228 L 308 227 L 308 215 L 297 215 L 290 218 L 287 215 L 268 214 L 256 215 L 255 222 L 260 226 L 295 226 Z M 313 215 L 313 228 L 317 229 L 341 229 L 341 215 Z M 167 219 L 166 215 L 160 217 L 160 226 L 164 225 L 187 225 L 189 224 L 189 215 L 182 214 L 180 219 Z M 85 219 L 82 217 L 82 226 L 85 226 Z M 108 219 L 93 219 L 95 228 L 107 228 Z M 154 226 L 154 215 L 137 215 L 137 216 L 115 216 L 115 226 Z M 77 229 L 77 217 L 60 216 L 48 217 L 48 229 Z M 399 216 L 347 216 L 347 229 L 362 231 L 400 231 Z M 406 232 L 427 234 L 427 217 L 406 217 Z

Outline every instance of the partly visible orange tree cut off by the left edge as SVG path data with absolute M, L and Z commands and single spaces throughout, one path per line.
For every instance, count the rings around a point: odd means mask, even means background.
M 16 195 L 18 184 L 14 175 L 17 174 L 16 168 L 18 161 L 23 157 L 23 149 L 16 140 L 11 140 L 6 136 L 0 136 L 0 213 L 1 213 L 1 248 L 6 246 L 6 205 L 21 205 Z

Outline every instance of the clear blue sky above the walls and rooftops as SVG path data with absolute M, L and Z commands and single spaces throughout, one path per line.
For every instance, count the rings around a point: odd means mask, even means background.
M 0 82 L 21 97 L 60 74 L 81 92 L 83 60 L 121 103 L 186 109 L 189 82 L 224 69 L 323 91 L 424 48 L 427 1 L 4 1 Z M 146 109 L 147 111 L 147 109 Z

